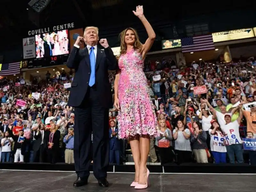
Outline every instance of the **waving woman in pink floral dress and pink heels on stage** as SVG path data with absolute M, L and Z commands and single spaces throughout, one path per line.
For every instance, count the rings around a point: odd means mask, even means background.
M 137 6 L 133 13 L 145 26 L 148 39 L 142 44 L 137 32 L 132 28 L 121 32 L 121 51 L 118 60 L 120 70 L 116 74 L 114 105 L 119 110 L 118 136 L 129 139 L 135 163 L 135 178 L 131 187 L 141 189 L 148 187 L 149 171 L 146 163 L 150 137 L 158 135 L 156 114 L 143 72 L 144 58 L 156 34 L 143 15 L 142 6 Z

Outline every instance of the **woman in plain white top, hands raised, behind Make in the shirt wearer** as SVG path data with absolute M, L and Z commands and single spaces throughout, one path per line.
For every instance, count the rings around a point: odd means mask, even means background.
M 200 111 L 200 114 L 199 114 L 199 119 L 201 119 L 203 131 L 205 131 L 207 134 L 207 140 L 206 140 L 207 148 L 210 149 L 211 137 L 209 134 L 209 129 L 212 126 L 212 124 L 211 124 L 212 115 L 210 114 L 210 112 L 208 110 L 206 110 L 205 108 L 202 108 Z

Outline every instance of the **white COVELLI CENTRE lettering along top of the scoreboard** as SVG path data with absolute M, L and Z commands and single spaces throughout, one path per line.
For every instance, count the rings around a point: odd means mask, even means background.
M 53 26 L 53 27 L 44 27 L 44 28 L 28 31 L 28 36 L 39 35 L 39 34 L 43 34 L 43 33 L 50 33 L 50 32 L 53 32 L 53 31 L 61 31 L 61 30 L 65 30 L 65 29 L 72 29 L 74 27 L 75 27 L 74 22 L 73 23 L 66 23 L 66 24 L 62 24 L 62 25 L 56 25 L 56 26 Z

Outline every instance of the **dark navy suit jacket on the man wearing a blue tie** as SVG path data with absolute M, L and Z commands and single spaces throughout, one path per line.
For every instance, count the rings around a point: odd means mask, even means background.
M 68 105 L 78 107 L 87 92 L 91 74 L 90 57 L 87 47 L 78 49 L 74 46 L 68 57 L 67 66 L 70 69 L 75 69 Z M 105 108 L 112 108 L 113 101 L 108 70 L 117 69 L 117 59 L 110 47 L 104 50 L 100 50 L 97 47 L 95 68 L 95 87 L 99 102 Z

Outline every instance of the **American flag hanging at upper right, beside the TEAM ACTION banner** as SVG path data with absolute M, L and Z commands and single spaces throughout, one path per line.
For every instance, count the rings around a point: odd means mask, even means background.
M 215 49 L 212 35 L 185 37 L 181 39 L 181 50 L 183 53 L 212 49 Z

